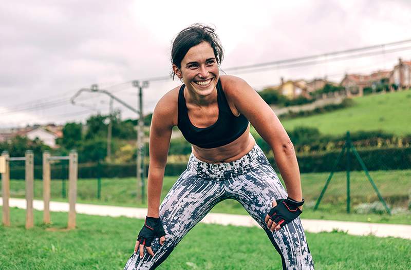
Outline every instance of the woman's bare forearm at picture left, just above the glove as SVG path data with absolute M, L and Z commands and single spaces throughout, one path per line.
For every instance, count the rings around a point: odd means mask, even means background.
M 163 187 L 164 168 L 148 169 L 147 180 L 147 217 L 158 218 L 161 189 Z

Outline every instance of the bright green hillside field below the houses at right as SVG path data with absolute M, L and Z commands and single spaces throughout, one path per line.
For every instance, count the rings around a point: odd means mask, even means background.
M 286 130 L 296 126 L 316 127 L 325 134 L 347 130 L 378 130 L 403 135 L 411 133 L 411 91 L 367 95 L 354 98 L 356 105 L 333 112 L 282 121 Z

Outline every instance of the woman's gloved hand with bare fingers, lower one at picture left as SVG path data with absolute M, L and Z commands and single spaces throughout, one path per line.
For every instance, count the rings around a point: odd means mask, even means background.
M 165 241 L 163 224 L 161 223 L 160 218 L 146 217 L 143 228 L 138 234 L 136 245 L 134 246 L 134 253 L 137 253 L 137 249 L 139 248 L 140 258 L 143 258 L 145 246 L 148 254 L 154 256 L 151 243 L 156 237 L 160 238 L 160 245 L 163 245 Z

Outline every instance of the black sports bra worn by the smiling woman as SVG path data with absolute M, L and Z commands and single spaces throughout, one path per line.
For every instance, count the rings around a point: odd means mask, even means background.
M 217 82 L 218 119 L 209 127 L 194 126 L 189 119 L 184 98 L 183 84 L 178 92 L 178 128 L 185 140 L 201 148 L 214 148 L 231 143 L 241 136 L 248 127 L 247 118 L 240 114 L 236 117 L 228 105 L 221 82 Z

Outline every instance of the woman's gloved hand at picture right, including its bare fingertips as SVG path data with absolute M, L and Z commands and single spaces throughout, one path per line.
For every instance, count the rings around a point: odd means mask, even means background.
M 265 218 L 267 227 L 271 230 L 271 232 L 281 229 L 286 224 L 301 215 L 301 208 L 303 204 L 304 199 L 302 202 L 296 202 L 288 197 L 287 199 L 273 201 L 273 208 L 271 208 Z

